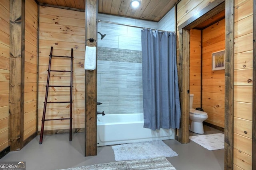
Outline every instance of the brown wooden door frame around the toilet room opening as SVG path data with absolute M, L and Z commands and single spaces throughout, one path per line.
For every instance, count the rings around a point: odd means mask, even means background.
M 226 6 L 226 8 L 225 8 Z M 193 16 L 178 26 L 178 72 L 180 82 L 180 98 L 182 101 L 181 128 L 178 130 L 176 139 L 181 143 L 189 142 L 189 56 L 190 56 L 190 30 L 197 25 L 204 23 L 209 18 L 225 10 L 225 167 L 233 167 L 233 112 L 234 112 L 234 2 L 226 1 L 198 12 L 198 16 Z M 226 24 L 227 23 L 227 24 Z

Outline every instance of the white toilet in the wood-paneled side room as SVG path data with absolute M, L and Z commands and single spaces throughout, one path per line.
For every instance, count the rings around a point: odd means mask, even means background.
M 189 130 L 194 133 L 204 134 L 203 121 L 208 118 L 208 115 L 204 111 L 193 109 L 194 94 L 189 94 L 189 119 L 191 125 Z

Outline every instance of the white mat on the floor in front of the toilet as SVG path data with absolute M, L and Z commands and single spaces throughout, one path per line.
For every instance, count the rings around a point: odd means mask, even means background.
M 224 134 L 222 133 L 191 136 L 189 138 L 208 150 L 224 149 Z

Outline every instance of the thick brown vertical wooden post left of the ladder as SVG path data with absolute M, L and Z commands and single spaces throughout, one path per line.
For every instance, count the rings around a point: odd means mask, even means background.
M 10 150 L 23 147 L 25 0 L 10 0 Z

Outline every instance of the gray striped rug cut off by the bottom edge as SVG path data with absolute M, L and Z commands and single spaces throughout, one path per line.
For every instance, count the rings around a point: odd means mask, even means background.
M 176 170 L 174 166 L 164 157 L 111 162 L 90 166 L 81 166 L 63 170 Z

